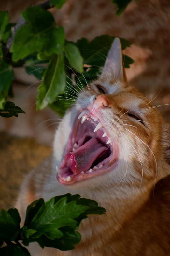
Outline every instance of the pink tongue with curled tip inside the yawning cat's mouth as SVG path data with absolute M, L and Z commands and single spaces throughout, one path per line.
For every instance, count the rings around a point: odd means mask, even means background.
M 65 155 L 64 159 L 74 175 L 77 175 L 82 171 L 89 170 L 96 158 L 106 150 L 107 147 L 99 143 L 96 138 L 92 138 L 74 152 Z

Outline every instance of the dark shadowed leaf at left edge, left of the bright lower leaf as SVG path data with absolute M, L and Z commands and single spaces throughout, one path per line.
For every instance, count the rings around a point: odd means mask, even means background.
M 14 211 L 12 211 L 12 216 L 3 209 L 0 212 L 0 240 L 13 241 L 20 231 L 19 223 L 17 222 L 18 217 Z

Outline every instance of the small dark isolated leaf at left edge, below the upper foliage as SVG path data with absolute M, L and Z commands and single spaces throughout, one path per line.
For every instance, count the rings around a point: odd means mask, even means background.
M 4 108 L 0 109 L 0 116 L 2 117 L 18 117 L 18 113 L 25 114 L 25 112 L 20 107 L 15 106 L 15 104 L 11 101 L 6 101 L 4 104 Z

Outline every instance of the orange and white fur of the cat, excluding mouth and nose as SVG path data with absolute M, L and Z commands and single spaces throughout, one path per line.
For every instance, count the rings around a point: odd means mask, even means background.
M 31 255 L 112 256 L 170 254 L 170 130 L 157 108 L 134 87 L 123 81 L 120 42 L 117 39 L 109 52 L 102 75 L 77 99 L 77 106 L 67 111 L 56 132 L 54 155 L 35 168 L 24 180 L 17 208 L 22 222 L 26 206 L 43 197 L 78 193 L 97 200 L 106 208 L 104 216 L 89 216 L 79 232 L 81 242 L 75 250 L 61 252 L 52 248 L 43 251 L 37 244 L 29 247 Z M 119 75 L 119 78 L 118 78 Z M 93 104 L 102 86 L 109 108 L 97 114 L 119 146 L 118 166 L 105 175 L 71 186 L 60 185 L 55 166 L 60 164 L 65 144 L 78 111 Z M 90 99 L 92 99 L 90 101 Z M 135 111 L 145 124 L 129 119 L 126 112 Z M 129 120 L 129 121 L 128 121 Z M 134 122 L 133 122 L 134 121 Z M 156 184 L 156 185 L 155 185 Z

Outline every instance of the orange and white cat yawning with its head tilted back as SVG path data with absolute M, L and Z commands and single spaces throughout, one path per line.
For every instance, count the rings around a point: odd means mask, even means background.
M 169 255 L 169 148 L 170 127 L 127 83 L 115 38 L 101 75 L 61 121 L 53 156 L 27 175 L 16 205 L 23 223 L 32 201 L 69 192 L 96 200 L 106 215 L 82 221 L 75 250 L 32 243 L 31 255 Z

